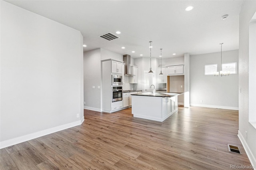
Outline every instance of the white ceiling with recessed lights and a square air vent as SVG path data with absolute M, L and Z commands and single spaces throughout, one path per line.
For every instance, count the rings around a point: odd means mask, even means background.
M 132 58 L 163 58 L 238 49 L 239 13 L 244 0 L 6 0 L 79 30 L 84 51 L 104 48 Z M 185 11 L 187 6 L 194 6 Z M 226 20 L 221 20 L 228 14 Z M 116 34 L 120 31 L 121 34 Z M 111 32 L 118 39 L 99 36 Z M 65 35 L 63 35 L 65 36 Z M 125 47 L 122 49 L 121 47 Z M 132 53 L 131 51 L 135 51 Z M 176 55 L 173 55 L 176 53 Z M 143 56 L 140 56 L 143 54 Z

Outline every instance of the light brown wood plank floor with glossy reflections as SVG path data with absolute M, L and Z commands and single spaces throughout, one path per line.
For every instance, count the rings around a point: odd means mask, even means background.
M 84 110 L 84 123 L 0 150 L 1 170 L 229 170 L 250 166 L 238 111 L 179 107 L 164 122 Z M 228 152 L 227 144 L 242 155 Z

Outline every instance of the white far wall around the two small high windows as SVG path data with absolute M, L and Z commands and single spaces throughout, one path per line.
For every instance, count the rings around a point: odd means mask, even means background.
M 222 63 L 230 62 L 237 62 L 238 67 L 238 50 L 222 51 Z M 220 52 L 190 56 L 190 105 L 238 109 L 238 74 L 204 75 L 206 64 L 220 66 Z

